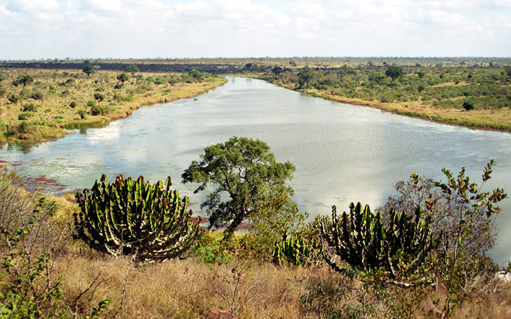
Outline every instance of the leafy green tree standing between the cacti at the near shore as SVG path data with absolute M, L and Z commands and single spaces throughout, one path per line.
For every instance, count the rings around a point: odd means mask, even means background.
M 269 207 L 279 211 L 291 202 L 294 192 L 286 180 L 293 178 L 295 167 L 289 161 L 277 163 L 261 140 L 234 136 L 206 147 L 200 158 L 181 177 L 183 183 L 200 183 L 194 193 L 216 186 L 201 207 L 206 208 L 210 228 L 227 227 L 225 240 L 245 218 Z

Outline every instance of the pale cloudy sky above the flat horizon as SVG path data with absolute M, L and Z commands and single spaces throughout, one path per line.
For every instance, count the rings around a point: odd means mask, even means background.
M 0 0 L 0 60 L 511 56 L 511 0 Z

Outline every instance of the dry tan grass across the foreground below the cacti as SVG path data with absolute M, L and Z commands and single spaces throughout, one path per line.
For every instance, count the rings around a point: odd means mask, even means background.
M 73 197 L 51 197 L 60 207 L 55 219 L 70 221 L 77 205 Z M 283 266 L 243 258 L 231 254 L 232 261 L 223 264 L 201 263 L 195 256 L 184 260 L 165 261 L 136 267 L 127 258 L 110 256 L 68 240 L 56 250 L 52 273 L 63 275 L 63 296 L 71 305 L 71 313 L 90 315 L 93 306 L 108 297 L 111 304 L 102 316 L 106 318 L 199 318 L 211 309 L 223 309 L 237 318 L 317 318 L 314 309 L 306 311 L 300 296 L 310 286 L 323 284 L 334 291 L 343 278 L 322 265 Z M 361 296 L 373 306 L 371 317 L 389 316 L 389 300 L 362 291 L 360 281 L 343 281 L 351 285 L 347 295 L 335 295 L 330 304 L 360 309 Z M 511 318 L 511 284 L 500 285 L 497 293 L 476 291 L 455 309 L 454 318 Z M 413 318 L 439 318 L 435 300 L 443 300 L 441 288 L 427 288 L 427 293 L 412 304 L 395 304 L 409 310 Z M 405 291 L 405 297 L 413 295 Z M 405 298 L 406 299 L 406 298 Z M 325 302 L 315 301 L 315 305 Z M 441 304 L 441 302 L 440 302 Z M 360 316 L 361 312 L 357 312 Z M 325 315 L 322 313 L 322 318 Z

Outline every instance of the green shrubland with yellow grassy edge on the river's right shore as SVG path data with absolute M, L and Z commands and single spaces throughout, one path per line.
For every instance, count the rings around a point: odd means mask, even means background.
M 273 67 L 254 76 L 332 101 L 444 124 L 511 131 L 511 67 Z

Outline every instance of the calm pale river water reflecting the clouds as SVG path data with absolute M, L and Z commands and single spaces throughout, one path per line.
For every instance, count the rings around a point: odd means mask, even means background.
M 90 187 L 106 173 L 150 181 L 168 175 L 199 211 L 200 195 L 181 185 L 181 174 L 204 147 L 231 136 L 259 138 L 278 161 L 296 167 L 295 202 L 311 215 L 330 213 L 350 202 L 384 204 L 393 185 L 410 173 L 441 178 L 441 167 L 467 167 L 480 182 L 482 167 L 494 158 L 486 189 L 511 193 L 511 134 L 475 131 L 384 113 L 374 108 L 325 101 L 264 81 L 229 77 L 229 82 L 195 99 L 140 108 L 103 129 L 78 131 L 32 147 L 0 150 L 3 161 L 28 177 L 54 179 L 65 190 Z M 46 192 L 61 191 L 47 188 Z M 511 259 L 511 201 L 498 218 L 500 234 L 492 256 Z

